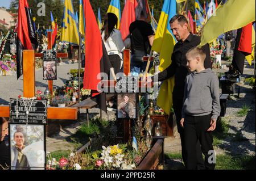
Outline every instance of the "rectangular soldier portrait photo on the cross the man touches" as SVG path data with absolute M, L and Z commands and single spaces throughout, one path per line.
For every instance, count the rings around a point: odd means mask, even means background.
M 136 99 L 134 93 L 117 94 L 117 118 L 136 119 Z

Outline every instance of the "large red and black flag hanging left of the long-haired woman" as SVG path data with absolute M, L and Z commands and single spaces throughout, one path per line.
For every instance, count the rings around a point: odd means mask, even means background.
M 98 75 L 101 73 L 109 74 L 110 64 L 108 53 L 101 38 L 101 32 L 94 15 L 89 0 L 83 0 L 85 14 L 85 71 L 84 71 L 84 89 L 92 90 L 93 98 L 96 98 L 101 110 L 106 112 L 106 95 L 98 94 L 98 84 L 101 79 Z

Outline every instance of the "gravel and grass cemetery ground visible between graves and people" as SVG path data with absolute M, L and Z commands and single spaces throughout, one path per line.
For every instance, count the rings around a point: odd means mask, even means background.
M 223 61 L 224 68 L 218 69 L 218 73 L 228 71 Z M 53 87 L 61 87 L 67 81 L 68 71 L 77 69 L 78 64 L 69 64 L 64 61 L 57 67 L 57 81 L 53 81 Z M 36 70 L 36 90 L 44 91 L 47 82 L 43 81 L 42 69 Z M 214 150 L 216 151 L 216 169 L 255 169 L 255 89 L 245 82 L 245 78 L 253 75 L 253 66 L 245 64 L 245 74 L 241 79 L 240 97 L 237 94 L 230 96 L 227 100 L 226 115 L 217 123 L 214 131 Z M 9 104 L 10 98 L 17 98 L 22 95 L 22 78 L 16 81 L 16 75 L 0 77 L 0 105 Z M 90 122 L 94 123 L 86 127 L 86 110 L 80 110 L 80 117 L 77 121 L 51 120 L 51 126 L 55 129 L 47 137 L 47 151 L 57 160 L 62 156 L 67 157 L 71 150 L 77 150 L 90 140 L 92 134 L 104 133 L 106 124 L 112 124 L 115 120 L 115 113 L 103 113 L 102 117 L 109 121 L 97 119 L 100 110 L 93 108 L 89 110 Z M 108 122 L 108 123 L 107 123 Z M 174 121 L 174 125 L 175 125 Z M 94 125 L 94 126 L 93 126 Z M 85 133 L 85 134 L 84 134 Z M 164 141 L 166 162 L 164 169 L 184 169 L 181 161 L 181 146 L 179 133 L 174 128 L 174 136 L 167 137 Z

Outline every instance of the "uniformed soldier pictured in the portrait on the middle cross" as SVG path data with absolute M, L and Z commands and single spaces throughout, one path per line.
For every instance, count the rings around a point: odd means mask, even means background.
M 119 103 L 118 105 L 118 118 L 135 118 L 134 106 L 132 103 L 134 100 L 131 100 L 127 94 L 123 95 L 122 97 L 123 102 Z

